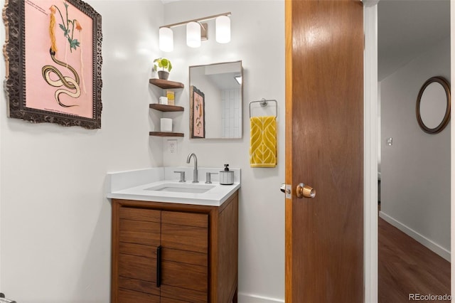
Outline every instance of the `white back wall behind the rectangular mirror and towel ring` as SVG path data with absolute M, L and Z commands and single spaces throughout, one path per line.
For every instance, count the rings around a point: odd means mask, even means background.
M 173 28 L 174 50 L 164 53 L 173 63 L 170 80 L 185 84 L 176 105 L 188 108 L 188 66 L 242 60 L 243 138 L 188 139 L 189 112 L 177 119 L 178 153 L 164 151 L 164 164 L 186 164 L 195 152 L 200 166 L 242 169 L 239 204 L 239 302 L 284 301 L 284 1 L 178 1 L 165 4 L 165 24 L 227 11 L 231 16 L 231 41 L 215 42 L 214 21 L 208 21 L 209 40 L 200 48 L 188 48 L 185 26 Z M 278 101 L 278 165 L 252 169 L 249 163 L 250 101 Z M 166 141 L 166 139 L 164 139 Z M 205 180 L 205 176 L 200 176 Z M 262 298 L 259 298 L 262 297 Z

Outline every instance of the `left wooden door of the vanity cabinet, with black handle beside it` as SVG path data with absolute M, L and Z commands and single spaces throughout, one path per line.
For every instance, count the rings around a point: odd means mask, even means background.
M 119 302 L 159 302 L 156 249 L 161 211 L 119 208 Z

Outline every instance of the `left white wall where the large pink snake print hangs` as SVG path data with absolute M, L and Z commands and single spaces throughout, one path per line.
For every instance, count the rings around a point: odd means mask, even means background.
M 106 173 L 163 164 L 148 134 L 163 4 L 88 2 L 102 15 L 102 128 L 9 119 L 0 96 L 0 291 L 21 303 L 109 302 Z

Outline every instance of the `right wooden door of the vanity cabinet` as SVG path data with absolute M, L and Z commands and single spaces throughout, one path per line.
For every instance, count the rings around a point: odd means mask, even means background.
M 208 214 L 161 212 L 161 302 L 207 302 Z

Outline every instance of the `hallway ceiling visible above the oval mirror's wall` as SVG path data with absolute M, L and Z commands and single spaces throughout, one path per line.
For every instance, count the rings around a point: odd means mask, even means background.
M 378 80 L 449 36 L 449 0 L 380 0 Z

